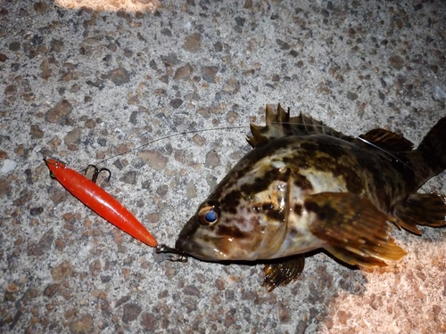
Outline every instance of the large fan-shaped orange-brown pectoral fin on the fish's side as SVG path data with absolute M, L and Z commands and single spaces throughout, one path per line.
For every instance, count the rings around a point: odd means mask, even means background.
M 326 249 L 350 265 L 380 266 L 407 253 L 389 235 L 394 222 L 367 198 L 344 192 L 308 196 L 304 207 L 314 215 L 310 232 Z

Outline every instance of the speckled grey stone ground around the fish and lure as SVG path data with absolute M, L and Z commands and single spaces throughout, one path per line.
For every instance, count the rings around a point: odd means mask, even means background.
M 262 124 L 277 102 L 346 134 L 381 126 L 419 143 L 446 114 L 444 2 L 78 3 L 0 4 L 0 159 L 17 163 L 0 175 L 0 331 L 446 332 L 444 230 L 394 232 L 409 255 L 380 270 L 318 253 L 268 293 L 260 266 L 155 263 L 42 160 L 81 170 L 166 134 Z M 249 150 L 247 131 L 147 145 L 106 161 L 102 185 L 173 245 Z M 446 193 L 445 182 L 423 189 Z

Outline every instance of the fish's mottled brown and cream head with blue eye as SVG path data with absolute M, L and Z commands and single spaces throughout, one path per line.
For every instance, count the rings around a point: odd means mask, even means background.
M 267 164 L 240 173 L 239 167 L 196 210 L 179 233 L 176 248 L 205 261 L 253 261 L 272 258 L 282 247 L 288 168 Z

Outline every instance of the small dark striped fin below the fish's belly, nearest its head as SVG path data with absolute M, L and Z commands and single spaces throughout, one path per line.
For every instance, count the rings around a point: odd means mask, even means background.
M 304 266 L 305 257 L 303 255 L 288 258 L 283 262 L 267 264 L 263 268 L 265 273 L 263 285 L 268 288 L 268 292 L 271 292 L 279 285 L 286 285 L 297 279 Z

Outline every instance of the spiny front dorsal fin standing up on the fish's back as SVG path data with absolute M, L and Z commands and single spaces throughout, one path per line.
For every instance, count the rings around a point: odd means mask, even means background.
M 288 137 L 290 135 L 325 134 L 341 138 L 348 142 L 354 139 L 354 137 L 345 135 L 326 126 L 323 122 L 302 114 L 298 117 L 290 118 L 290 110 L 285 111 L 280 104 L 277 106 L 277 113 L 267 105 L 266 123 L 266 126 L 250 124 L 252 135 L 248 135 L 246 140 L 253 148 L 262 146 L 273 139 Z

